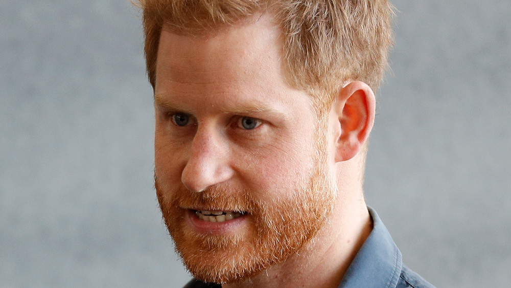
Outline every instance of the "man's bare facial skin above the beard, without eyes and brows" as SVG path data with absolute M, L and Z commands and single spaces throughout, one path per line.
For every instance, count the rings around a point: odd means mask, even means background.
M 190 158 L 198 166 L 191 167 L 191 172 L 205 174 L 196 173 L 194 183 L 189 184 L 198 190 L 235 175 L 239 182 L 268 189 L 276 183 L 293 183 L 296 174 L 310 170 L 316 121 L 309 98 L 289 87 L 282 76 L 280 51 L 273 43 L 277 32 L 258 35 L 245 30 L 248 33 L 213 38 L 162 32 L 160 47 L 166 52 L 158 54 L 155 94 L 175 103 L 177 111 L 190 114 L 197 125 L 181 128 L 188 129 L 183 136 L 156 106 L 158 179 L 172 174 L 170 182 L 178 182 Z M 237 41 L 246 41 L 250 48 L 237 49 Z M 239 115 L 224 109 L 245 104 L 268 105 L 279 115 L 244 115 L 261 119 L 263 124 L 254 129 L 257 132 L 243 131 L 231 125 Z M 273 180 L 269 187 L 268 180 Z

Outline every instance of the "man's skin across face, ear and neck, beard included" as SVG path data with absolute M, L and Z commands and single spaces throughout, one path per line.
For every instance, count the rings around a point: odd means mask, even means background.
M 196 278 L 224 288 L 337 287 L 372 229 L 359 151 L 374 94 L 347 83 L 316 117 L 309 96 L 284 77 L 271 16 L 252 20 L 201 36 L 164 27 L 155 84 L 158 202 Z M 218 224 L 195 210 L 246 213 Z

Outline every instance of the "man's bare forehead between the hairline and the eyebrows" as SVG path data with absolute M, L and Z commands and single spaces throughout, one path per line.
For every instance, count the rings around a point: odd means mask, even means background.
M 288 84 L 283 73 L 281 34 L 267 15 L 203 35 L 180 35 L 164 29 L 155 95 L 173 102 L 183 98 L 218 103 L 246 104 L 251 99 L 287 102 L 290 99 L 285 98 L 299 91 Z

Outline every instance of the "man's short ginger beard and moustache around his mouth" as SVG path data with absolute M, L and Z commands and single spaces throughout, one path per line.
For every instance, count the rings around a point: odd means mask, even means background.
M 324 157 L 320 157 L 323 158 Z M 156 194 L 176 252 L 198 279 L 225 283 L 255 275 L 293 255 L 323 227 L 331 213 L 336 189 L 324 171 L 323 161 L 293 191 L 238 190 L 227 185 L 193 192 L 183 186 L 164 191 L 155 178 Z M 246 213 L 245 228 L 236 233 L 200 234 L 185 216 L 188 209 Z

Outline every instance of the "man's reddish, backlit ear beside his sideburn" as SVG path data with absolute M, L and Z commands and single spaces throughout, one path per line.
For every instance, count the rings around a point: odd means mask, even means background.
M 340 126 L 335 162 L 350 160 L 362 149 L 373 128 L 375 107 L 375 94 L 366 83 L 354 81 L 341 88 L 331 110 L 336 127 Z

